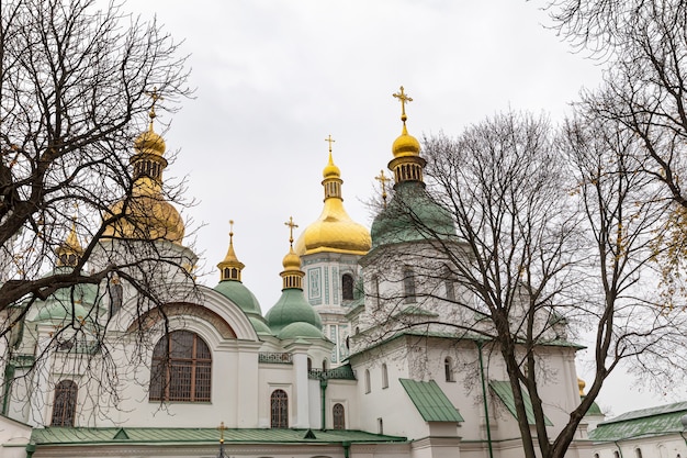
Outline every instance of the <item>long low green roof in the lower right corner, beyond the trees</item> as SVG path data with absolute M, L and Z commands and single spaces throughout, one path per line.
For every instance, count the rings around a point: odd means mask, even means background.
M 628 412 L 599 423 L 589 432 L 589 438 L 596 442 L 611 442 L 680 433 L 683 431 L 680 417 L 685 414 L 687 402 Z

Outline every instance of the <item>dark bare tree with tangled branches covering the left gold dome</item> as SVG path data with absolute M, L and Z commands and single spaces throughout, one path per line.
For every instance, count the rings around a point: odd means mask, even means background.
M 64 316 L 35 362 L 56 347 L 88 346 L 81 354 L 101 362 L 82 364 L 109 379 L 116 365 L 102 358 L 103 335 L 113 309 L 133 300 L 144 316 L 179 299 L 160 279 L 193 282 L 195 258 L 180 245 L 183 221 L 169 203 L 181 202 L 183 183 L 162 181 L 165 144 L 153 124 L 156 110 L 173 112 L 190 96 L 184 62 L 155 21 L 114 2 L 2 2 L 3 362 L 29 351 L 25 320 L 57 306 Z

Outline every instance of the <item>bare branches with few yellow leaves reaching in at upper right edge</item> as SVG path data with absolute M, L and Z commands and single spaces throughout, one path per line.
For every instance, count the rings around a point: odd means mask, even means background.
M 563 36 L 602 56 L 604 85 L 582 94 L 581 110 L 630 132 L 646 160 L 638 172 L 664 185 L 676 205 L 656 244 L 663 293 L 684 298 L 687 254 L 683 178 L 687 139 L 687 4 L 669 1 L 555 1 L 550 13 Z

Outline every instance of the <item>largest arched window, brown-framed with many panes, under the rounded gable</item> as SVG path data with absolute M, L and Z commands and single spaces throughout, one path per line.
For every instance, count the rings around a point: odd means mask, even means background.
M 210 402 L 212 355 L 198 334 L 172 331 L 153 350 L 150 401 Z

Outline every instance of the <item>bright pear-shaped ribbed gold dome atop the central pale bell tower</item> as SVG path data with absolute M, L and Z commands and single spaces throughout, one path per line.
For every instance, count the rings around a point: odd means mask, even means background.
M 313 224 L 307 226 L 296 242 L 296 253 L 301 256 L 313 253 L 333 252 L 364 255 L 372 246 L 370 231 L 356 223 L 344 209 L 341 198 L 341 172 L 331 159 L 323 170 L 325 179 L 325 208 Z

